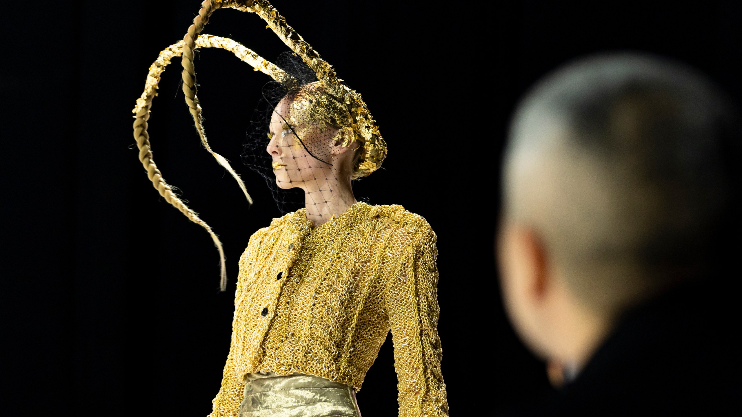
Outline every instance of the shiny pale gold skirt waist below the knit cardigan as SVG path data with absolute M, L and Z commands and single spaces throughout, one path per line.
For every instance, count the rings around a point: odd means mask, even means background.
M 312 375 L 245 377 L 239 417 L 361 417 L 355 392 L 339 382 Z

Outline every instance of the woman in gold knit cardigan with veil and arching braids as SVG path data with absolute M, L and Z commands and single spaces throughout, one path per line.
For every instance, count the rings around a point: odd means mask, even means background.
M 231 39 L 199 36 L 220 7 L 256 13 L 292 52 L 274 65 Z M 390 331 L 399 416 L 447 416 L 436 234 L 401 206 L 356 201 L 352 180 L 381 166 L 385 142 L 361 96 L 267 1 L 204 1 L 184 41 L 163 50 L 151 67 L 134 109 L 134 136 L 155 188 L 220 248 L 162 179 L 146 133 L 157 81 L 182 54 L 183 89 L 200 137 L 248 195 L 203 134 L 195 47 L 231 50 L 275 80 L 263 88 L 264 116 L 254 120 L 246 162 L 270 176 L 275 191 L 303 190 L 303 207 L 252 234 L 240 257 L 232 343 L 211 416 L 360 417 L 355 391 Z

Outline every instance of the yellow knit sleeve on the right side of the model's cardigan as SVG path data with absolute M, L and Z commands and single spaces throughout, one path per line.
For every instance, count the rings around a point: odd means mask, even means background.
M 448 416 L 436 328 L 436 234 L 430 226 L 400 228 L 390 237 L 386 255 L 385 304 L 394 341 L 399 416 Z

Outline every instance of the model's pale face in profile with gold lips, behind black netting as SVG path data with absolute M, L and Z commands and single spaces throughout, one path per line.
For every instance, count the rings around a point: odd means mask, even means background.
M 296 100 L 286 96 L 278 102 L 269 125 L 271 140 L 266 151 L 273 160 L 276 184 L 280 188 L 303 188 L 309 193 L 331 193 L 327 182 L 344 175 L 338 172 L 352 157 L 352 152 L 346 151 L 358 145 L 340 145 L 335 139 L 337 128 L 328 126 L 321 131 L 316 122 L 297 122 L 302 114 L 301 103 L 297 105 Z

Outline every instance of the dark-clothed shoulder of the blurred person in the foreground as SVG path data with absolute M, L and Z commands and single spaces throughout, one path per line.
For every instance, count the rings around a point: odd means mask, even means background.
M 574 381 L 496 415 L 695 416 L 742 410 L 739 312 L 731 293 L 710 283 L 686 283 L 629 310 Z

